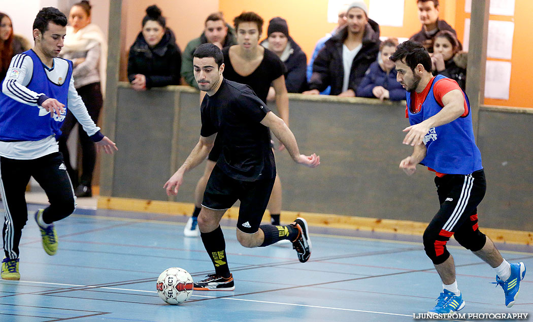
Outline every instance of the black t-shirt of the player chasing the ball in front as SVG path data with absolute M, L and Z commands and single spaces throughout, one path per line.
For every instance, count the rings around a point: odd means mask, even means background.
M 269 111 L 250 87 L 226 79 L 213 96 L 205 95 L 200 135 L 217 133 L 222 151 L 216 165 L 231 178 L 256 181 L 276 176 L 270 131 L 260 123 Z

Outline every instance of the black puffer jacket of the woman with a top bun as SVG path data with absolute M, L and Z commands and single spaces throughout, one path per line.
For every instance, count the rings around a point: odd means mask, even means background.
M 128 55 L 128 79 L 135 74 L 146 76 L 146 87 L 163 87 L 180 84 L 181 51 L 172 30 L 165 31 L 161 41 L 150 48 L 142 33 L 130 48 Z

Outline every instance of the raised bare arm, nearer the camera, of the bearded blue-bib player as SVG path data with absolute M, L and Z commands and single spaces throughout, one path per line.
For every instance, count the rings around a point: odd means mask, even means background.
M 421 144 L 424 140 L 424 135 L 429 132 L 430 128 L 450 123 L 465 112 L 464 96 L 460 90 L 449 91 L 442 96 L 442 104 L 444 107 L 437 114 L 421 123 L 403 129 L 403 132 L 407 132 L 403 139 L 403 144 L 411 146 Z

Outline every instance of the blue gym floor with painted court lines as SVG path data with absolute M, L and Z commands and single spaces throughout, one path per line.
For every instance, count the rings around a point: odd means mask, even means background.
M 184 216 L 78 209 L 56 223 L 59 251 L 47 255 L 33 220 L 20 245 L 20 281 L 0 280 L 0 321 L 410 321 L 442 291 L 421 237 L 311 227 L 313 252 L 244 248 L 224 220 L 235 291 L 195 291 L 168 305 L 156 279 L 169 267 L 195 280 L 212 272 L 200 238 L 184 238 Z M 533 247 L 497 244 L 528 273 L 511 309 L 495 273 L 450 241 L 466 307 L 461 313 L 533 312 Z

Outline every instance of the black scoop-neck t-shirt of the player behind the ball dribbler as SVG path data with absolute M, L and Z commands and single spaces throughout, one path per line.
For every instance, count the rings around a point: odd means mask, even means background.
M 230 46 L 231 47 L 231 46 Z M 265 49 L 263 54 L 263 60 L 248 76 L 241 76 L 237 74 L 230 61 L 230 47 L 224 47 L 222 54 L 224 55 L 224 78 L 228 81 L 233 81 L 252 87 L 252 90 L 257 94 L 263 102 L 266 102 L 266 95 L 270 84 L 274 79 L 279 78 L 281 75 L 285 75 L 285 64 L 278 58 L 276 54 L 268 49 Z

